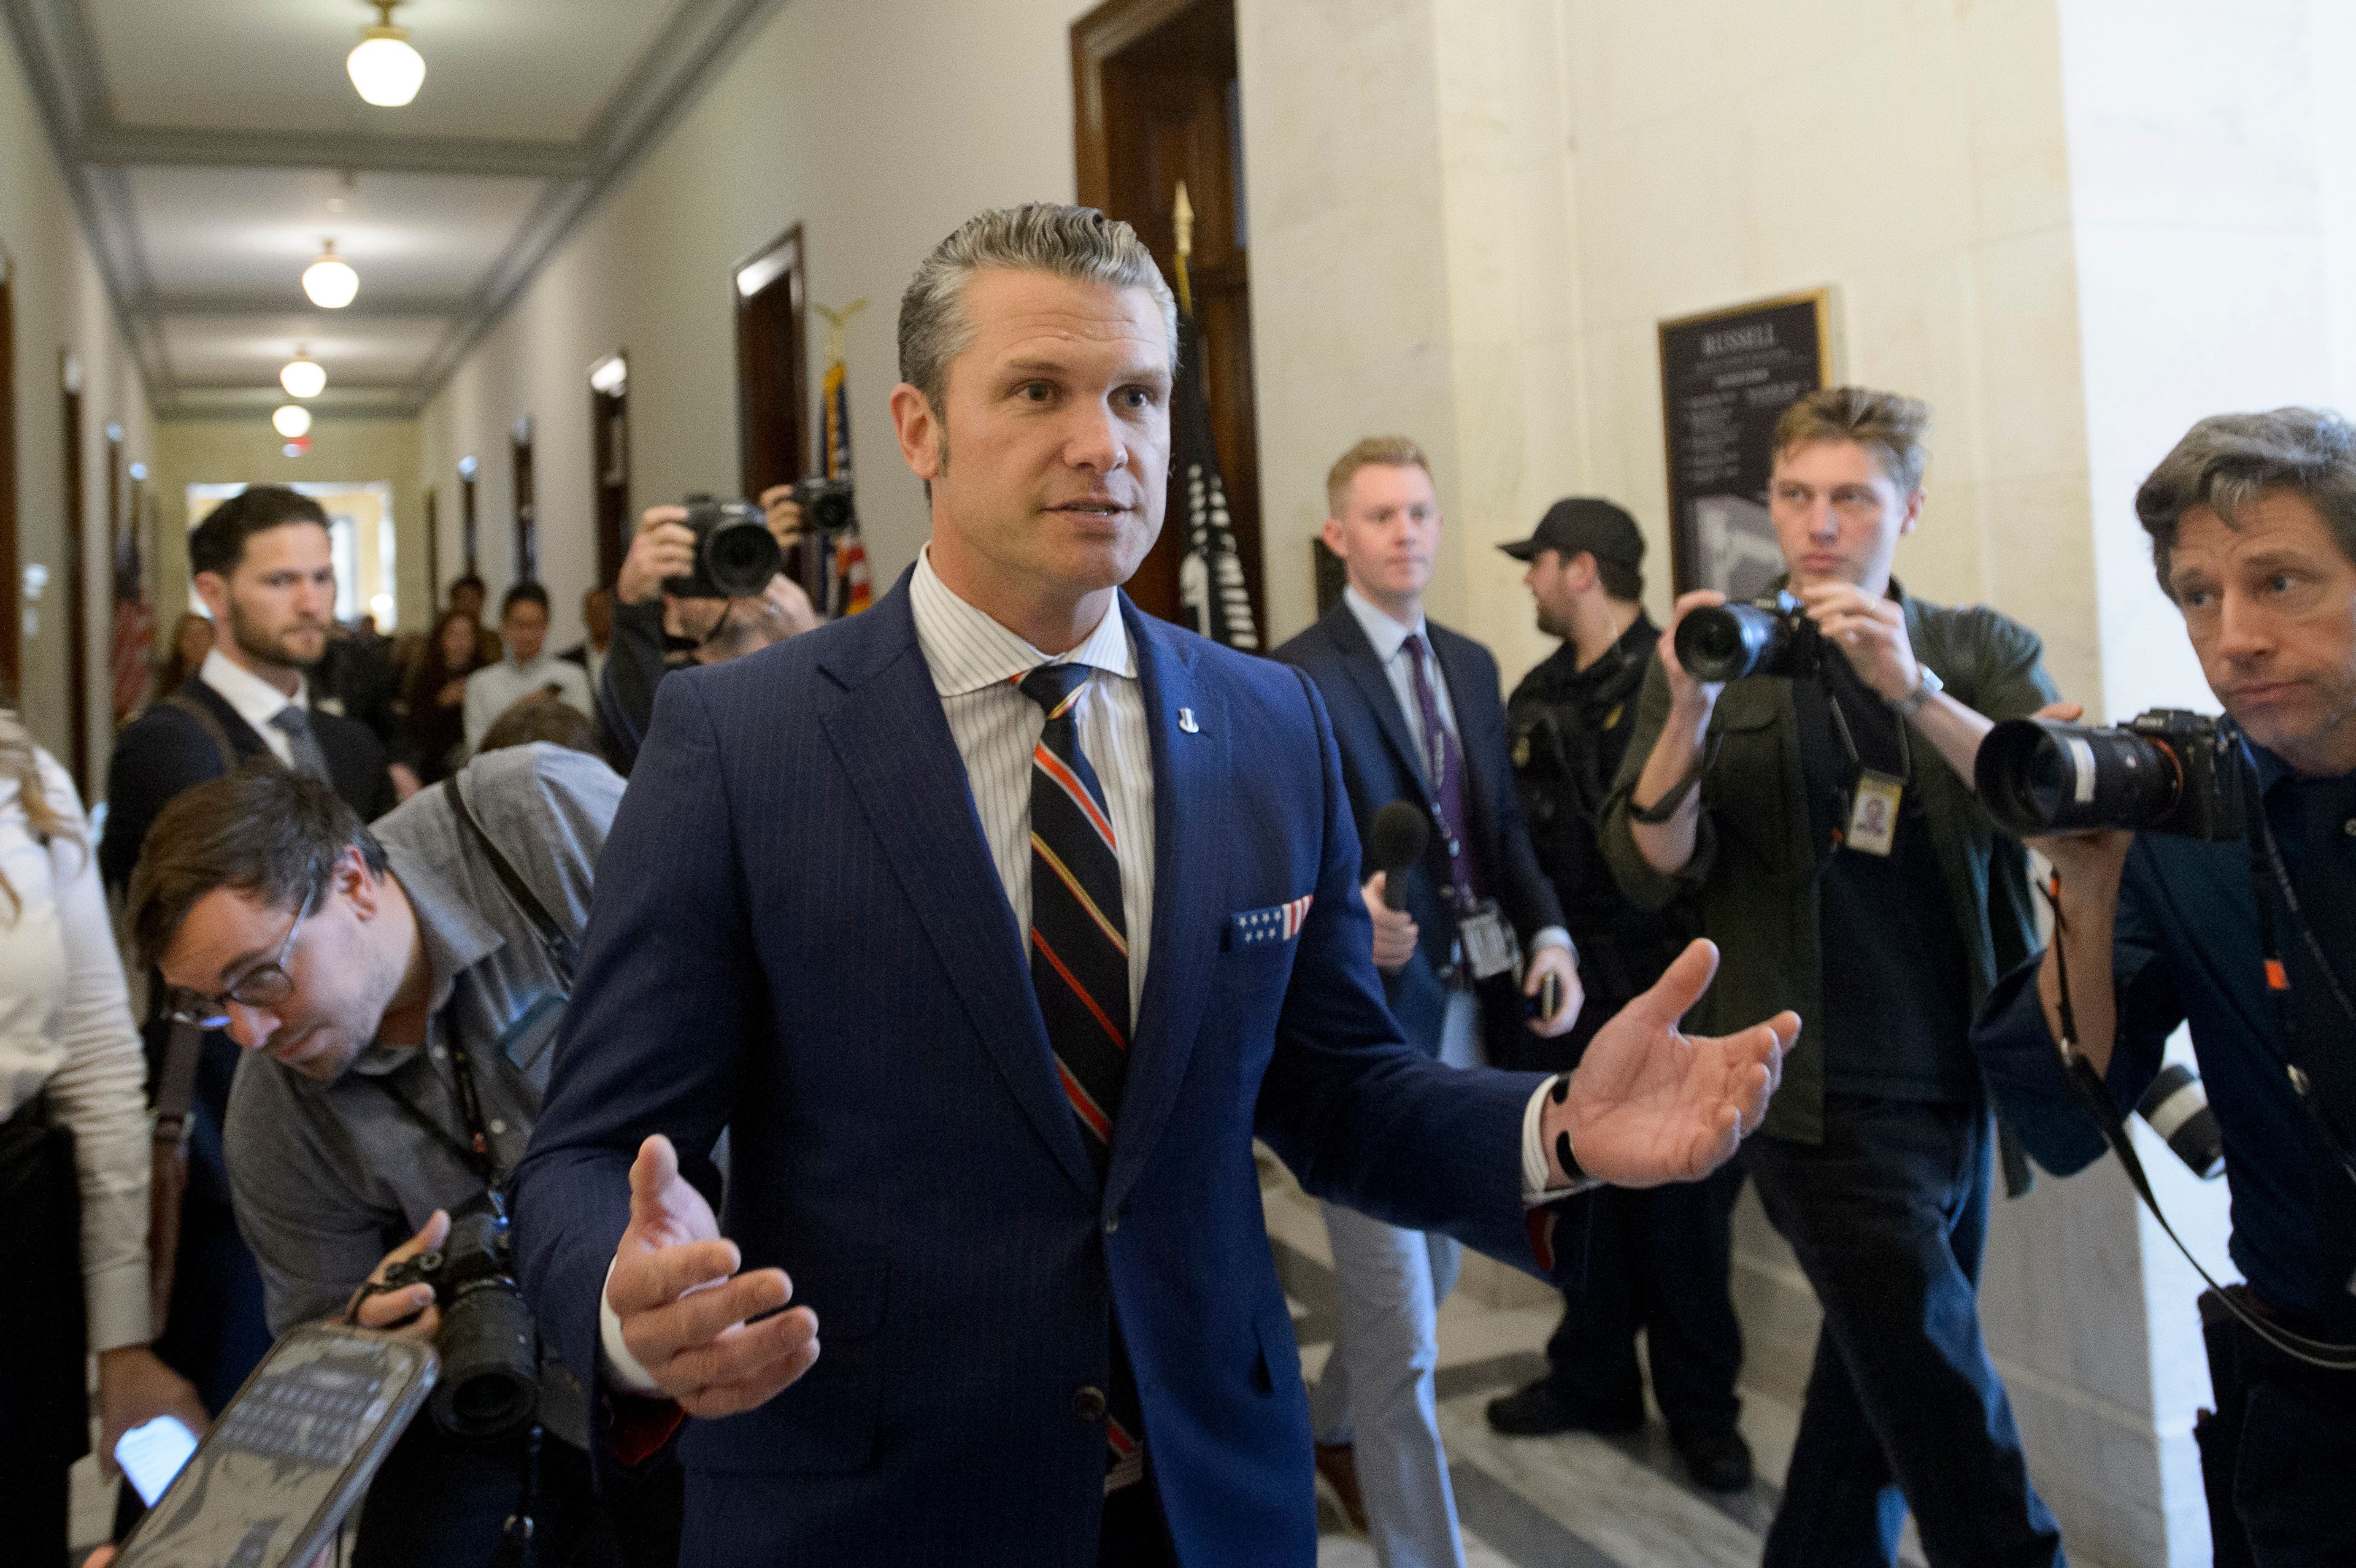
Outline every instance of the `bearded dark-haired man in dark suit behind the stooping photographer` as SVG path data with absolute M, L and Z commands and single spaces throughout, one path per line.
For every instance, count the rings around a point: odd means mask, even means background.
M 111 888 L 130 883 L 148 824 L 172 796 L 247 758 L 273 756 L 325 777 L 363 817 L 393 805 L 384 746 L 368 725 L 313 709 L 304 680 L 304 666 L 325 652 L 335 617 L 335 563 L 318 501 L 252 485 L 196 525 L 188 565 L 219 638 L 177 692 L 115 737 L 99 841 L 99 869 Z M 163 989 L 151 991 L 160 1001 Z M 151 1083 L 165 1038 L 167 1024 L 155 1010 L 146 1026 Z M 271 1344 L 262 1278 L 231 1220 L 221 1163 L 221 1116 L 236 1067 L 238 1048 L 207 1034 L 188 1116 L 188 1196 L 172 1307 L 155 1342 L 155 1354 L 196 1382 L 214 1413 Z M 123 1495 L 137 1502 L 130 1488 Z

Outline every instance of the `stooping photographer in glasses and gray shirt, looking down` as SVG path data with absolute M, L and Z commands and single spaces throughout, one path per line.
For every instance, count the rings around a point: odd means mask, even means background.
M 325 784 L 247 768 L 174 798 L 132 873 L 172 1015 L 243 1048 L 224 1142 L 271 1333 L 405 1323 L 441 1351 L 436 1420 L 370 1488 L 363 1568 L 490 1563 L 525 1519 L 551 1568 L 676 1552 L 662 1481 L 591 1497 L 589 1368 L 535 1354 L 507 1264 L 502 1194 L 620 798 L 598 758 L 518 746 L 368 829 Z

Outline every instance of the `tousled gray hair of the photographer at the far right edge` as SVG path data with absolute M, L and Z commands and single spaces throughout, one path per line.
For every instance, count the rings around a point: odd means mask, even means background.
M 2323 513 L 2340 553 L 2356 560 L 2356 431 L 2321 407 L 2278 407 L 2266 414 L 2210 414 L 2184 433 L 2135 492 L 2135 516 L 2151 534 L 2151 567 L 2160 593 L 2177 527 L 2193 506 L 2208 506 L 2226 527 L 2266 490 L 2288 490 Z

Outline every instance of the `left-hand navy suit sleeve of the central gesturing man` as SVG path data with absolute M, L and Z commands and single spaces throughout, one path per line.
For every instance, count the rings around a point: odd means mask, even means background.
M 763 1010 L 719 737 L 693 680 L 662 683 L 596 883 L 516 1170 L 518 1276 L 582 1377 L 601 1368 L 598 1300 L 629 1222 L 629 1163 L 664 1132 L 690 1175 L 709 1172 Z

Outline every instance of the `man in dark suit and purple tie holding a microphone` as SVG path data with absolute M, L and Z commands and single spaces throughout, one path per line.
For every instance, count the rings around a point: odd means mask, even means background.
M 1392 890 L 1399 909 L 1366 866 L 1383 994 L 1399 1034 L 1449 1067 L 1520 1064 L 1529 1034 L 1553 1038 L 1579 1017 L 1579 961 L 1522 826 L 1496 659 L 1423 617 L 1440 494 L 1414 440 L 1371 436 L 1343 452 L 1326 473 L 1324 542 L 1348 572 L 1343 598 L 1277 659 L 1324 697 L 1357 836 L 1392 800 L 1432 824 Z M 1522 996 L 1548 975 L 1560 1005 L 1529 1017 Z M 1331 1201 L 1324 1220 L 1341 1333 L 1310 1401 L 1317 1464 L 1345 1507 L 1362 1497 L 1385 1568 L 1463 1563 L 1432 1394 L 1461 1248 Z

